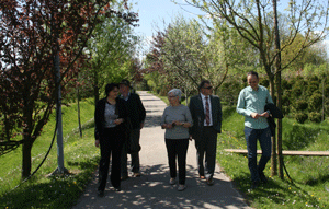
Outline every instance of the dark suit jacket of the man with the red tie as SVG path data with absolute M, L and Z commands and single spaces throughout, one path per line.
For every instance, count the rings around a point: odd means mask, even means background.
M 213 116 L 213 128 L 220 133 L 222 132 L 222 105 L 220 100 L 216 95 L 209 95 L 211 105 L 212 105 L 212 116 Z M 191 97 L 190 105 L 189 105 L 193 126 L 189 129 L 190 135 L 195 140 L 202 139 L 202 132 L 204 129 L 204 107 L 202 103 L 201 95 L 195 95 Z

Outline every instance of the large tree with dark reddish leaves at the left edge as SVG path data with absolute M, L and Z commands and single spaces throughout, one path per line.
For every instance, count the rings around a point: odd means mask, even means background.
M 110 0 L 2 0 L 0 4 L 1 147 L 22 144 L 22 177 L 56 103 L 53 60 L 59 53 L 63 93 L 83 65 L 83 48 Z M 18 135 L 22 136 L 19 140 Z

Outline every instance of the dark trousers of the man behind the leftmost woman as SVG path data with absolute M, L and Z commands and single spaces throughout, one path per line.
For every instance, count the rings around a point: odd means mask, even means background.
M 140 138 L 140 129 L 133 129 L 131 132 L 131 146 L 138 147 L 139 146 L 139 138 Z M 139 152 L 135 152 L 131 154 L 132 158 L 132 172 L 139 173 Z M 122 151 L 122 158 L 121 158 L 121 176 L 127 177 L 128 171 L 127 171 L 127 143 L 124 144 L 123 151 Z

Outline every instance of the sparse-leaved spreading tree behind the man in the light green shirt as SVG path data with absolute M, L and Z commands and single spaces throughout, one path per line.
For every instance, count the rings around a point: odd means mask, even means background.
M 275 90 L 275 76 L 296 60 L 306 48 L 321 40 L 327 30 L 328 2 L 291 0 L 286 10 L 285 22 L 288 32 L 280 34 L 281 40 L 284 42 L 281 42 L 281 48 L 275 48 L 273 3 L 276 3 L 276 1 L 190 0 L 186 2 L 202 9 L 213 20 L 226 20 L 242 38 L 258 49 L 260 61 L 270 81 L 272 97 L 274 98 L 276 92 L 279 100 L 281 92 Z M 281 65 L 280 69 L 275 69 L 274 63 L 279 54 L 292 45 L 302 33 L 304 34 L 304 40 L 298 45 L 295 55 L 285 66 Z M 275 140 L 273 142 L 275 143 Z M 276 167 L 273 165 L 272 174 L 276 174 Z

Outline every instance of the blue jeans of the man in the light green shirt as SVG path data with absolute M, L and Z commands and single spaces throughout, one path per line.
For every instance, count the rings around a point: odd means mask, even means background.
M 265 129 L 252 129 L 245 127 L 245 136 L 248 150 L 248 166 L 251 174 L 251 181 L 260 181 L 259 172 L 262 172 L 271 159 L 272 142 L 270 127 Z M 257 165 L 257 140 L 262 149 L 262 156 Z

